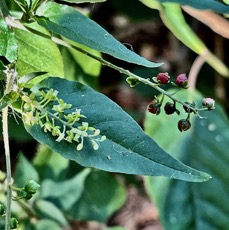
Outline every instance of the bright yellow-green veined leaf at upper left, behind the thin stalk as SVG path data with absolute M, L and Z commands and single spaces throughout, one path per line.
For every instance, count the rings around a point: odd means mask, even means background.
M 36 24 L 31 27 L 41 30 Z M 17 29 L 18 60 L 16 64 L 19 76 L 33 72 L 48 72 L 56 76 L 63 76 L 63 62 L 60 51 L 51 40 L 38 36 L 34 33 Z M 47 77 L 47 75 L 45 75 Z M 36 77 L 31 80 L 33 84 L 45 77 Z M 32 84 L 31 83 L 31 84 Z

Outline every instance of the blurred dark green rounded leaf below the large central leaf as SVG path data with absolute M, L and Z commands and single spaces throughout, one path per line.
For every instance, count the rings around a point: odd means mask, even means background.
M 125 202 L 125 189 L 114 176 L 93 171 L 85 181 L 84 192 L 68 215 L 78 220 L 106 222 Z

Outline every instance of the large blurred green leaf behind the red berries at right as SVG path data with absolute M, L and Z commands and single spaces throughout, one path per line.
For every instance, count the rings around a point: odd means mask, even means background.
M 201 104 L 197 92 L 179 93 L 182 100 Z M 183 111 L 183 109 L 180 109 Z M 229 155 L 228 119 L 219 105 L 202 113 L 206 119 L 192 119 L 190 131 L 180 133 L 176 123 L 182 117 L 147 114 L 146 132 L 160 145 L 186 164 L 212 175 L 204 184 L 193 184 L 167 178 L 146 178 L 146 188 L 160 210 L 165 230 L 227 230 L 229 226 Z M 168 132 L 163 130 L 167 128 Z

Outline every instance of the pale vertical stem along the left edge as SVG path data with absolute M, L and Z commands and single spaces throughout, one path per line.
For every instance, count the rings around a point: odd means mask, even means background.
M 5 230 L 10 229 L 11 219 L 11 199 L 12 199 L 12 188 L 11 188 L 11 163 L 10 163 L 10 147 L 9 147 L 9 134 L 8 134 L 8 106 L 2 110 L 2 127 L 3 127 L 3 140 L 5 147 L 6 157 L 6 181 L 7 181 L 7 200 L 6 200 L 6 218 L 5 218 Z

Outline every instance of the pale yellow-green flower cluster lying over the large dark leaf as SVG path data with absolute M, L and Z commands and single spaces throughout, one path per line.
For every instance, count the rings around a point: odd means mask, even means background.
M 57 137 L 56 141 L 62 140 L 76 143 L 78 151 L 83 149 L 84 138 L 88 138 L 94 150 L 99 148 L 98 142 L 106 139 L 100 136 L 100 130 L 89 126 L 88 122 L 82 122 L 86 118 L 80 109 L 70 110 L 72 105 L 67 104 L 57 97 L 58 91 L 38 91 L 23 94 L 22 119 L 27 125 L 38 124 L 44 132 Z

